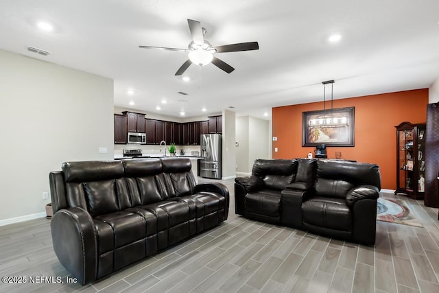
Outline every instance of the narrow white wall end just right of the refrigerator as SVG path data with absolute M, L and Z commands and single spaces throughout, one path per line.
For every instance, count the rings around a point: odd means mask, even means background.
M 222 178 L 235 178 L 235 112 L 222 111 Z

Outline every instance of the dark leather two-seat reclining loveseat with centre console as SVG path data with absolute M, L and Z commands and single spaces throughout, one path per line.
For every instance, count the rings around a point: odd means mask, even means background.
M 375 164 L 315 159 L 256 160 L 235 179 L 235 212 L 247 218 L 374 245 Z

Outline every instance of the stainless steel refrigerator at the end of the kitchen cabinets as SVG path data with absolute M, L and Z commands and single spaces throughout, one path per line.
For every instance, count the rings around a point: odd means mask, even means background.
M 221 134 L 201 134 L 200 176 L 222 178 L 222 136 Z

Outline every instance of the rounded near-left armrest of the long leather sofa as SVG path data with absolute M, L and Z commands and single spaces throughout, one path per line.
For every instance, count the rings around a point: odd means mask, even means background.
M 52 217 L 52 243 L 62 266 L 85 285 L 97 277 L 97 232 L 91 215 L 80 207 L 60 209 Z

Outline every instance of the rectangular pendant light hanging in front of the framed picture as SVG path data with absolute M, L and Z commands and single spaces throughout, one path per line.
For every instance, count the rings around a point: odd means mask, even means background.
M 345 127 L 348 126 L 349 121 L 346 116 L 334 115 L 333 113 L 333 85 L 334 80 L 327 80 L 323 84 L 323 115 L 309 119 L 308 126 L 310 128 L 325 128 L 325 127 Z M 327 84 L 331 84 L 331 110 L 327 112 Z

